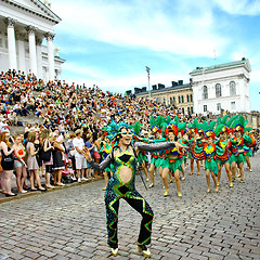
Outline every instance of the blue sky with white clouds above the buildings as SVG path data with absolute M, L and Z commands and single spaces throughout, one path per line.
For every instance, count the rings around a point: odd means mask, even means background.
M 62 78 L 125 92 L 183 79 L 197 66 L 249 58 L 260 110 L 260 0 L 55 0 Z

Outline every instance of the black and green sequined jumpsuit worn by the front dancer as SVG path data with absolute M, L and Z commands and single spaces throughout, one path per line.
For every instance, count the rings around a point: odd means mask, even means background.
M 165 143 L 153 143 L 145 144 L 136 142 L 133 146 L 139 151 L 155 152 L 173 147 L 174 142 Z M 114 157 L 114 151 L 118 148 L 120 154 Z M 119 147 L 114 147 L 112 153 L 106 157 L 100 165 L 90 161 L 91 166 L 98 171 L 104 170 L 109 164 L 114 164 L 115 171 L 110 178 L 106 192 L 105 192 L 105 205 L 106 205 L 106 224 L 108 239 L 107 243 L 112 248 L 118 247 L 117 239 L 117 222 L 118 222 L 118 209 L 119 199 L 123 198 L 132 208 L 142 214 L 140 235 L 138 242 L 141 245 L 148 245 L 151 243 L 152 234 L 152 222 L 153 222 L 153 210 L 142 195 L 135 190 L 135 172 L 136 172 L 136 158 L 133 154 L 129 153 L 129 147 L 126 152 L 121 152 Z M 128 167 L 132 171 L 132 177 L 129 182 L 125 183 L 121 181 L 119 172 L 122 167 Z

